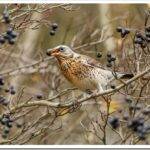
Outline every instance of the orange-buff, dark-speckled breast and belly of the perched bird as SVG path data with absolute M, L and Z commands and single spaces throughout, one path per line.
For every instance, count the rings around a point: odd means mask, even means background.
M 95 71 L 81 62 L 65 61 L 60 64 L 64 76 L 80 89 L 95 89 L 97 86 Z

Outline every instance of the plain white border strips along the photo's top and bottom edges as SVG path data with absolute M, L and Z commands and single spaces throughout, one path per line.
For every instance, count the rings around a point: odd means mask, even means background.
M 111 4 L 126 4 L 126 3 L 139 3 L 145 4 L 150 3 L 148 0 L 0 0 L 0 4 L 3 3 L 72 3 L 72 4 L 100 4 L 100 3 L 111 3 Z M 0 148 L 148 148 L 150 145 L 0 145 Z

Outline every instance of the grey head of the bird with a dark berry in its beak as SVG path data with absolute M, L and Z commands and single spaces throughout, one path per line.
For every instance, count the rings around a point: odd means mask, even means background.
M 54 56 L 56 58 L 71 58 L 75 54 L 75 52 L 66 45 L 59 45 L 52 49 L 48 49 L 46 53 L 48 56 Z

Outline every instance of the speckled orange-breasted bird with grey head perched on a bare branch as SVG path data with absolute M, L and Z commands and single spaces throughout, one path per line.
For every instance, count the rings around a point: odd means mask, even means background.
M 57 59 L 66 79 L 83 92 L 104 92 L 114 79 L 132 78 L 132 73 L 113 72 L 104 68 L 94 58 L 79 54 L 67 45 L 59 45 L 46 51 Z

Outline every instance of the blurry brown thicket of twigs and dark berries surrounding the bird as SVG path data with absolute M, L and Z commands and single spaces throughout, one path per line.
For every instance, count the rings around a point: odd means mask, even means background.
M 150 63 L 149 13 L 147 4 L 1 4 L 0 143 L 149 144 L 148 77 L 78 104 L 83 92 L 46 56 L 65 44 L 137 75 Z

